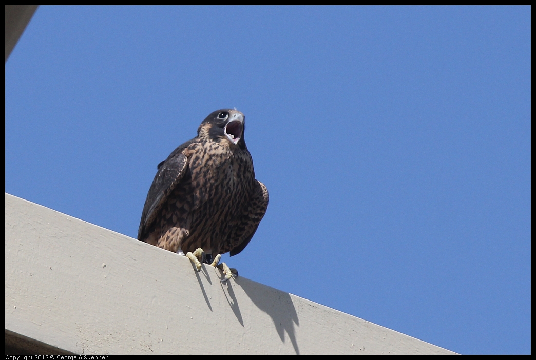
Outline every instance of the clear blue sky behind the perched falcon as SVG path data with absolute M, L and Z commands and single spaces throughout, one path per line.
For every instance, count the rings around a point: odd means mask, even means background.
M 463 354 L 531 349 L 530 7 L 41 6 L 5 191 L 136 237 L 157 164 L 245 114 L 242 276 Z

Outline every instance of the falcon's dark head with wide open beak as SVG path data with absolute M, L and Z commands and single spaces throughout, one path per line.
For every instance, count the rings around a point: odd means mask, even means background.
M 203 120 L 197 134 L 200 138 L 245 149 L 244 119 L 244 114 L 238 110 L 217 110 Z

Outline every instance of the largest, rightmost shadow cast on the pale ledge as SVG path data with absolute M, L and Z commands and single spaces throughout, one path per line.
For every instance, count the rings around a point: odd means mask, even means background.
M 287 292 L 261 285 L 244 277 L 239 276 L 235 280 L 251 301 L 260 310 L 269 314 L 282 342 L 285 342 L 285 332 L 287 333 L 294 347 L 294 351 L 299 355 L 300 349 L 296 342 L 294 325 L 300 326 L 300 320 L 298 319 L 291 296 Z M 277 300 L 273 301 L 273 299 Z

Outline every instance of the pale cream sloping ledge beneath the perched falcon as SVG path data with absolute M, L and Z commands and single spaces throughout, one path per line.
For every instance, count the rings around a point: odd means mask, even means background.
M 6 341 L 87 355 L 454 354 L 242 276 L 222 284 L 215 268 L 10 194 L 5 236 Z

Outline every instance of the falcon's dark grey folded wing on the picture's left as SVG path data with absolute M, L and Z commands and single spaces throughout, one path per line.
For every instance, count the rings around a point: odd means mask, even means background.
M 175 189 L 185 172 L 188 171 L 188 157 L 182 153 L 174 153 L 158 164 L 157 175 L 154 176 L 143 206 L 142 220 L 138 229 L 139 240 L 143 239 L 146 230 L 151 227 L 155 216 L 158 214 L 162 204 L 167 200 L 169 193 Z

